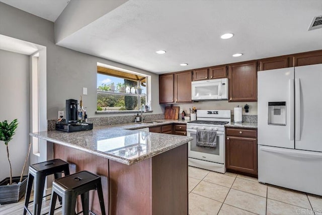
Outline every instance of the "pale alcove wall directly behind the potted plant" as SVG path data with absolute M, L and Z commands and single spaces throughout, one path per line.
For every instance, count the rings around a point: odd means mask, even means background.
M 20 176 L 29 144 L 29 56 L 0 50 L 0 121 L 17 118 L 16 134 L 9 142 L 13 176 Z M 7 150 L 0 142 L 0 180 L 9 177 Z M 25 174 L 28 173 L 28 166 Z

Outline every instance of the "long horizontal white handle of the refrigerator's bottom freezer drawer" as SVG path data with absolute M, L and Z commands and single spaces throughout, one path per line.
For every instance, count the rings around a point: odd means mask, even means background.
M 287 150 L 287 149 L 280 149 L 280 148 L 268 148 L 268 147 L 260 147 L 261 151 L 265 152 L 272 152 L 277 153 L 281 155 L 287 155 L 292 157 L 298 157 L 298 158 L 311 158 L 311 159 L 319 159 L 322 161 L 322 154 L 318 152 L 309 152 L 309 151 L 302 151 L 298 150 L 298 152 L 295 152 L 295 150 Z

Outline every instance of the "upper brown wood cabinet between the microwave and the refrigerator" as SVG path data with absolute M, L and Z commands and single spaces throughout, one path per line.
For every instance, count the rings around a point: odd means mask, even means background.
M 229 102 L 257 101 L 256 61 L 229 65 Z

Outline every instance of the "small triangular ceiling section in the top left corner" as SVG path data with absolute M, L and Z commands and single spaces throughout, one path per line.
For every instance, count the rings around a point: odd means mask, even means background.
M 70 0 L 0 0 L 0 2 L 55 22 Z

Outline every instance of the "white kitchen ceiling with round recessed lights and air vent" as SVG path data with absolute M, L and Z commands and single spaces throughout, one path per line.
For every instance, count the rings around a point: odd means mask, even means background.
M 15 2 L 16 6 L 12 5 L 17 8 L 30 2 L 1 1 Z M 321 0 L 135 0 L 57 41 L 57 45 L 163 74 L 322 49 L 322 29 L 307 31 L 312 18 L 319 15 Z M 228 32 L 234 37 L 220 38 Z M 156 54 L 159 49 L 167 53 Z M 244 55 L 232 57 L 238 52 Z M 188 65 L 180 66 L 183 62 Z

